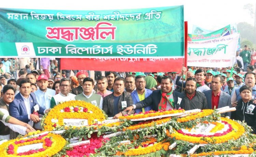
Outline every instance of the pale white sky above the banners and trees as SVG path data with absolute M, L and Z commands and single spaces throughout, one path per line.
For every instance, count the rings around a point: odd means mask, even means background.
M 125 8 L 146 8 L 184 5 L 184 19 L 188 21 L 188 32 L 193 25 L 203 29 L 218 30 L 228 24 L 248 22 L 254 25 L 243 9 L 247 3 L 256 0 L 9 0 L 0 7 L 50 10 L 112 10 Z

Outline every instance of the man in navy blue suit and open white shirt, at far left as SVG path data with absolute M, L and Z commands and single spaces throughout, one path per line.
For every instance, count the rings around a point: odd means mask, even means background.
M 39 116 L 33 114 L 35 108 L 39 108 L 38 113 L 41 115 L 49 112 L 50 109 L 42 108 L 38 104 L 35 94 L 31 93 L 31 82 L 29 80 L 22 80 L 19 86 L 19 93 L 9 105 L 10 114 L 12 117 L 33 126 L 33 122 L 40 121 Z

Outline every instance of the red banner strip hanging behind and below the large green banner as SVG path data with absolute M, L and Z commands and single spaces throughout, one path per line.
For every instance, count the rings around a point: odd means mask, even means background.
M 60 69 L 179 72 L 183 58 L 61 58 Z

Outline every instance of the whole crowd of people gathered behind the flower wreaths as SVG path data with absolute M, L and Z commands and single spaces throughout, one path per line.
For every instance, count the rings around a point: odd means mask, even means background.
M 246 65 L 244 51 L 239 53 L 245 61 L 242 70 L 238 61 L 234 67 L 227 68 L 181 67 L 179 73 L 106 71 L 102 76 L 101 71 L 95 71 L 94 79 L 85 70 L 74 71 L 73 76 L 66 71 L 60 75 L 54 58 L 41 58 L 40 66 L 34 65 L 39 59 L 3 58 L 0 62 L 0 127 L 3 128 L 0 139 L 42 129 L 43 115 L 69 100 L 89 102 L 114 119 L 149 110 L 236 107 L 236 111 L 222 116 L 245 120 L 255 133 L 256 74 L 254 65 Z

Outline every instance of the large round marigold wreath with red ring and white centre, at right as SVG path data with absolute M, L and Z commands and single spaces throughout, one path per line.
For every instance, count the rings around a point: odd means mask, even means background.
M 189 134 L 189 133 L 185 133 L 182 129 L 181 130 L 173 129 L 174 132 L 172 134 L 169 133 L 169 130 L 166 130 L 167 131 L 166 134 L 171 138 L 175 137 L 176 140 L 183 140 L 191 143 L 200 143 L 200 144 L 202 143 L 208 144 L 208 142 L 224 143 L 231 139 L 236 140 L 244 134 L 245 129 L 238 122 L 232 121 L 228 118 L 221 118 L 221 121 L 222 121 L 222 124 L 224 123 L 225 125 L 227 125 L 226 130 L 225 128 L 222 128 L 221 125 L 220 126 L 216 125 L 217 128 L 215 127 L 213 128 L 213 130 L 215 130 L 216 133 L 211 133 L 210 135 Z

